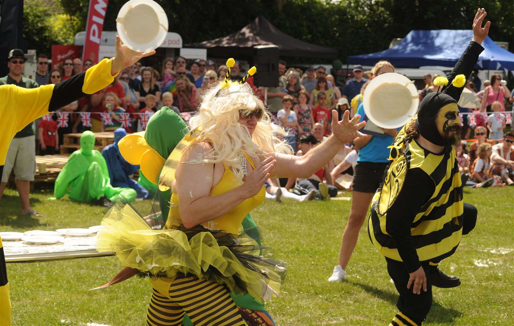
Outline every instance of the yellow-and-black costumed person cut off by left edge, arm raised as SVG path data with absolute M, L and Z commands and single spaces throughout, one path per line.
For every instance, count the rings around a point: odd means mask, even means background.
M 65 81 L 30 89 L 15 85 L 0 86 L 0 175 L 4 169 L 9 144 L 16 132 L 31 121 L 108 86 L 121 69 L 130 67 L 141 57 L 154 53 L 155 51 L 132 51 L 121 45 L 121 40 L 117 36 L 116 56 L 113 59 L 104 59 Z M 0 238 L 0 325 L 10 324 L 11 301 L 4 248 Z

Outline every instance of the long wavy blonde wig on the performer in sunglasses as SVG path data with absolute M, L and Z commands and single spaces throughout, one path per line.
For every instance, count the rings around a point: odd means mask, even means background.
M 271 121 L 264 103 L 255 95 L 247 83 L 239 84 L 229 81 L 215 83 L 206 90 L 199 105 L 199 112 L 189 121 L 194 129 L 203 126 L 198 141 L 212 144 L 212 149 L 192 164 L 221 163 L 227 165 L 237 182 L 243 179 L 240 163 L 241 152 L 251 156 L 263 156 L 263 151 L 292 154 L 292 148 L 282 139 L 286 135 L 284 129 Z M 225 87 L 223 87 L 225 86 Z M 250 137 L 248 128 L 239 122 L 240 111 L 250 113 L 260 108 L 263 111 L 261 121 L 257 123 Z M 279 137 L 282 135 L 282 137 Z

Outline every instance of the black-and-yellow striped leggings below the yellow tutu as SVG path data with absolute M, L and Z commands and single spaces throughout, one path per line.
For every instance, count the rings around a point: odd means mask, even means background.
M 207 279 L 183 277 L 169 282 L 153 281 L 152 299 L 146 315 L 150 326 L 179 326 L 187 312 L 195 326 L 246 325 L 225 286 Z M 157 287 L 157 289 L 156 289 Z M 163 293 L 164 292 L 164 293 Z

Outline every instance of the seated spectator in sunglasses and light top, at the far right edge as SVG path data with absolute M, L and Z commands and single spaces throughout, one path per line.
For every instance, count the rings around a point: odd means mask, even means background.
M 492 146 L 493 175 L 502 177 L 507 185 L 514 185 L 514 132 L 505 133 L 503 142 Z

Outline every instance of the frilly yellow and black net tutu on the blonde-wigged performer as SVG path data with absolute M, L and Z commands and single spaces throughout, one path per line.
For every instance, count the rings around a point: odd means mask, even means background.
M 249 293 L 263 302 L 278 295 L 285 264 L 259 256 L 256 242 L 201 225 L 192 229 L 150 228 L 131 205 L 108 210 L 98 233 L 97 251 L 114 252 L 125 266 L 156 278 L 177 273 L 226 284 L 233 293 Z

